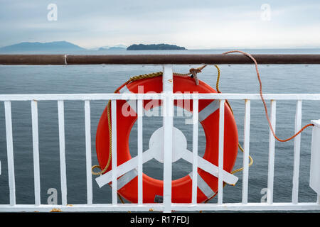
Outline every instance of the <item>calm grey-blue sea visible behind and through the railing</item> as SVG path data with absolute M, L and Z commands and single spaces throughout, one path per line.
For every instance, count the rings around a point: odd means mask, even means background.
M 78 54 L 163 54 L 163 53 L 221 53 L 225 50 L 185 51 L 105 51 L 78 52 Z M 316 49 L 299 50 L 245 50 L 250 53 L 320 53 Z M 77 53 L 76 53 L 77 54 Z M 174 65 L 174 72 L 188 72 L 198 65 Z M 319 93 L 320 65 L 260 65 L 262 91 L 264 93 Z M 220 90 L 229 93 L 258 93 L 259 87 L 254 65 L 220 65 Z M 69 65 L 69 66 L 0 66 L 0 94 L 75 94 L 110 93 L 129 77 L 138 74 L 161 71 L 161 66 L 150 65 Z M 199 78 L 215 88 L 217 72 L 208 66 Z M 97 164 L 95 155 L 95 133 L 97 123 L 107 101 L 91 102 L 92 165 Z M 243 141 L 244 101 L 230 101 L 238 125 L 239 140 Z M 270 104 L 270 102 L 267 102 Z M 277 101 L 277 135 L 288 138 L 294 133 L 295 101 Z M 58 111 L 56 101 L 38 102 L 39 149 L 41 170 L 41 203 L 47 204 L 48 189 L 58 190 L 60 196 L 60 162 L 58 140 Z M 303 101 L 302 124 L 320 118 L 319 101 Z M 85 114 L 83 101 L 65 101 L 65 153 L 68 179 L 68 204 L 85 204 Z M 174 125 L 181 129 L 192 150 L 192 126 L 186 125 L 185 118 L 175 117 Z M 31 104 L 28 101 L 12 102 L 14 133 L 14 164 L 16 174 L 16 203 L 34 204 L 33 150 L 31 131 Z M 148 148 L 151 134 L 161 127 L 161 117 L 144 118 L 144 150 Z M 267 187 L 267 164 L 269 128 L 262 101 L 251 103 L 250 155 L 254 163 L 249 170 L 250 202 L 260 202 L 262 189 Z M 206 139 L 199 128 L 200 154 L 206 148 Z M 137 154 L 137 128 L 130 135 L 130 150 Z M 301 167 L 299 177 L 299 201 L 316 201 L 316 193 L 309 187 L 309 162 L 311 150 L 311 129 L 302 133 Z M 292 172 L 294 143 L 276 142 L 274 170 L 274 201 L 289 202 L 292 198 Z M 9 204 L 8 171 L 6 159 L 6 128 L 4 104 L 0 103 L 0 204 Z M 242 165 L 239 151 L 235 168 Z M 192 170 L 191 164 L 179 160 L 173 165 L 173 177 L 177 179 Z M 159 162 L 151 160 L 144 165 L 144 172 L 157 179 L 163 175 Z M 224 202 L 240 202 L 242 197 L 242 173 L 238 183 L 223 189 Z M 110 203 L 111 188 L 101 189 L 93 177 L 94 203 Z M 215 203 L 217 199 L 212 199 Z

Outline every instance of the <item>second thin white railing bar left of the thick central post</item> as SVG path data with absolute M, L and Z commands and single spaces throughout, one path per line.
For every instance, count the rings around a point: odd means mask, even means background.
M 117 205 L 117 100 L 111 101 L 112 204 Z

